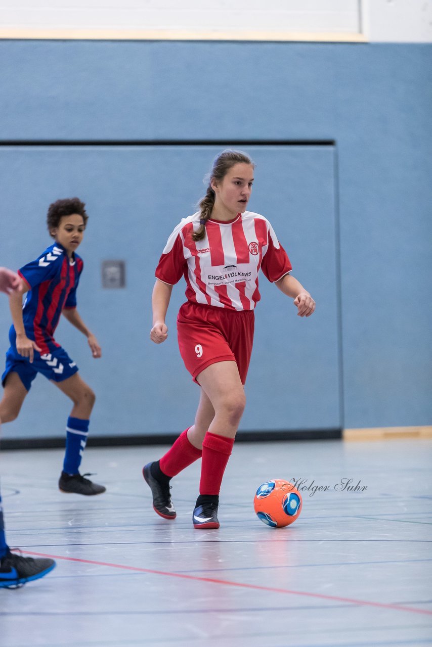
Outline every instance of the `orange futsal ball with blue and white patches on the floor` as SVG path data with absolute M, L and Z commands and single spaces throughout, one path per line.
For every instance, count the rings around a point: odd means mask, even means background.
M 302 498 L 292 483 L 283 479 L 273 479 L 258 487 L 253 507 L 263 523 L 272 528 L 283 528 L 299 516 Z

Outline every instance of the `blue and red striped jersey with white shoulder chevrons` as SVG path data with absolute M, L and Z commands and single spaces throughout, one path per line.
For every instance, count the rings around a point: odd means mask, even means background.
M 54 340 L 54 331 L 62 310 L 76 307 L 76 288 L 83 267 L 78 254 L 69 260 L 65 248 L 54 243 L 18 270 L 30 288 L 23 305 L 25 333 L 38 344 L 41 353 L 60 345 Z

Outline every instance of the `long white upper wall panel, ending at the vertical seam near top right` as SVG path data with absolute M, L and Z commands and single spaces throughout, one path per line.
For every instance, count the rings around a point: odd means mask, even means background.
M 360 32 L 361 0 L 0 0 L 6 30 L 142 32 L 141 38 L 284 39 Z M 165 32 L 162 33 L 161 32 Z M 168 32 L 168 34 L 166 33 Z M 2 34 L 0 33 L 0 36 Z M 103 36 L 103 34 L 102 34 Z M 291 39 L 288 36 L 288 39 Z M 17 37 L 17 36 L 16 36 Z M 123 36 L 124 38 L 124 36 Z

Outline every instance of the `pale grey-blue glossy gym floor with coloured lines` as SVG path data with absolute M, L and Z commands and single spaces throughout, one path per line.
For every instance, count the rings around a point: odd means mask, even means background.
M 141 468 L 165 449 L 87 448 L 95 498 L 58 491 L 60 450 L 2 453 L 8 542 L 57 567 L 0 589 L 1 647 L 432 645 L 432 441 L 238 443 L 217 531 L 192 527 L 199 462 L 177 519 L 153 512 Z M 272 529 L 252 505 L 271 478 L 328 490 Z

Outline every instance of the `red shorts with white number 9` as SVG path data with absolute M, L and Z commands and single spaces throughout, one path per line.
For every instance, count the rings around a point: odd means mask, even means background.
M 196 377 L 210 364 L 236 362 L 242 384 L 251 360 L 255 313 L 183 303 L 177 316 L 180 355 Z M 198 382 L 197 382 L 198 384 Z

